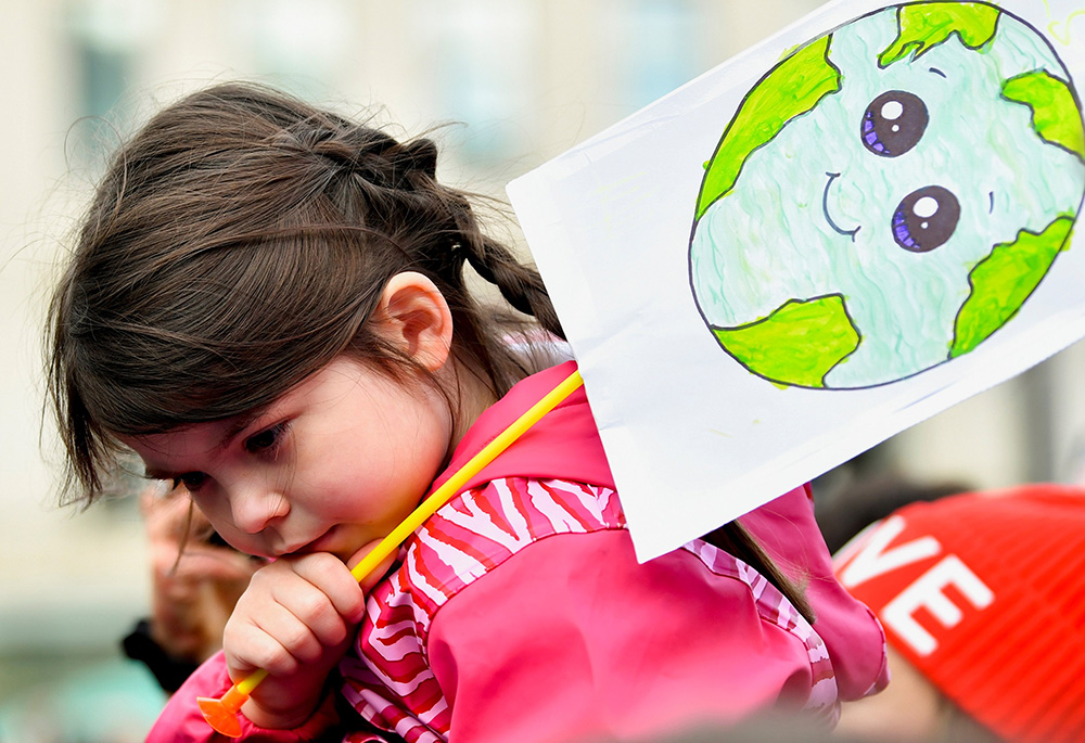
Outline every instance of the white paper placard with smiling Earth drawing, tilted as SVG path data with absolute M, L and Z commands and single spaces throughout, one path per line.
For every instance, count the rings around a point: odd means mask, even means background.
M 1083 36 L 830 2 L 509 184 L 638 559 L 1085 336 Z

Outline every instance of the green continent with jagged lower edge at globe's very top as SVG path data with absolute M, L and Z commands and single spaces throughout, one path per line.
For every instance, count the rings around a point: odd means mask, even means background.
M 957 34 L 969 49 L 979 49 L 995 36 L 999 10 L 982 2 L 917 2 L 897 11 L 896 40 L 878 56 L 886 67 L 915 52 L 927 52 Z

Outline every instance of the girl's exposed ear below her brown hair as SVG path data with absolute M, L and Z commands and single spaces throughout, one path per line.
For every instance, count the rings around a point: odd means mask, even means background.
M 397 273 L 381 295 L 374 319 L 380 332 L 429 371 L 448 360 L 452 313 L 441 290 L 416 271 Z

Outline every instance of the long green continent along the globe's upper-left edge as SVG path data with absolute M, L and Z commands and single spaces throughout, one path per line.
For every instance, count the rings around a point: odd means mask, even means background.
M 783 125 L 840 90 L 840 71 L 827 59 L 829 36 L 809 43 L 776 65 L 739 105 L 701 184 L 697 219 L 735 187 L 750 153 L 766 144 Z

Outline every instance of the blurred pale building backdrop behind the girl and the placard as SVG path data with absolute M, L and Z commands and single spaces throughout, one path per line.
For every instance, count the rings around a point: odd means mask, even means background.
M 0 741 L 142 740 L 164 699 L 119 650 L 150 604 L 136 499 L 58 508 L 41 424 L 44 297 L 119 138 L 207 81 L 255 79 L 400 133 L 447 123 L 439 175 L 502 195 L 818 4 L 0 0 Z M 1078 344 L 827 474 L 817 495 L 1076 482 L 1083 370 Z

